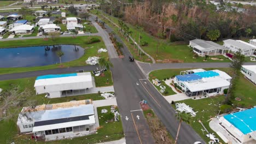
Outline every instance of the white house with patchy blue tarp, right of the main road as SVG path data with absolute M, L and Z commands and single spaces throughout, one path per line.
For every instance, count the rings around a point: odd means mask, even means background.
M 223 94 L 224 89 L 229 88 L 230 77 L 220 70 L 187 70 L 181 71 L 183 75 L 174 77 L 174 83 L 181 87 L 190 97 L 194 95 L 212 96 Z

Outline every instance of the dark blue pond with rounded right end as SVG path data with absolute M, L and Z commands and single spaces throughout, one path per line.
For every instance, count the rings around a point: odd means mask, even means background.
M 48 48 L 49 47 L 49 48 Z M 70 62 L 84 55 L 84 49 L 74 45 L 30 46 L 0 49 L 0 68 L 35 67 L 60 63 L 57 51 L 64 55 L 61 62 Z

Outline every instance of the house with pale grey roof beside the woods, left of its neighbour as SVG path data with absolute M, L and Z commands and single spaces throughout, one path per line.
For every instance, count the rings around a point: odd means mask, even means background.
M 206 41 L 202 39 L 194 39 L 189 41 L 189 46 L 193 48 L 193 51 L 199 56 L 216 56 L 223 55 L 226 49 L 222 45 L 214 43 L 212 41 Z

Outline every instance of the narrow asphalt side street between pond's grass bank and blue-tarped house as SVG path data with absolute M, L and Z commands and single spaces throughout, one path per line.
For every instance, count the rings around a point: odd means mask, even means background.
M 98 65 L 85 65 L 82 67 L 69 67 L 69 68 L 28 71 L 24 73 L 4 74 L 4 75 L 0 75 L 0 81 L 22 79 L 26 77 L 36 77 L 40 75 L 49 75 L 49 74 L 78 73 L 78 70 L 92 71 L 92 70 L 97 70 L 97 66 Z

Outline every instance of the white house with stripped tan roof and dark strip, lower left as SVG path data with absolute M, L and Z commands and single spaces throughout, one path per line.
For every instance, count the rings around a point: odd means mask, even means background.
M 35 140 L 61 140 L 89 135 L 96 131 L 92 101 L 24 107 L 17 125 L 21 133 L 30 133 Z

